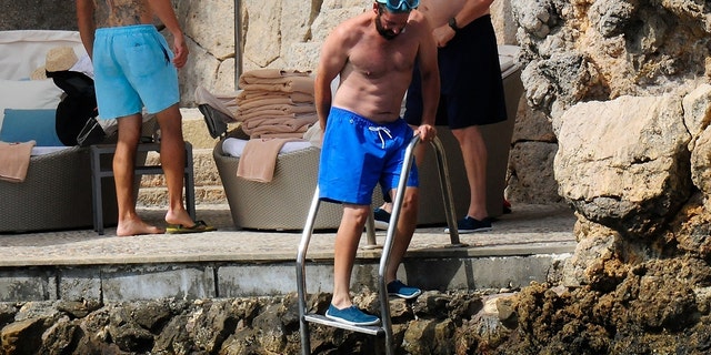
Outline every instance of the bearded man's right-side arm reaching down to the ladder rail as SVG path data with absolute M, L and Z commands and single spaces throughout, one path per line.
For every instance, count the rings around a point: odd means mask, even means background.
M 434 138 L 434 119 L 440 100 L 440 73 L 437 63 L 437 45 L 430 33 L 430 26 L 425 19 L 422 21 L 423 34 L 420 36 L 420 49 L 418 61 L 422 78 L 422 123 L 418 128 L 420 139 L 430 141 Z

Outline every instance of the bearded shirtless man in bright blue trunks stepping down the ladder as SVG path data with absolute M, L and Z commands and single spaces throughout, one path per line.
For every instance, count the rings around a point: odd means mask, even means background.
M 402 99 L 415 60 L 422 73 L 423 141 L 437 134 L 432 123 L 439 98 L 437 47 L 418 0 L 377 0 L 367 11 L 338 26 L 326 39 L 316 78 L 316 105 L 324 131 L 319 169 L 320 197 L 343 204 L 336 236 L 333 298 L 326 316 L 353 325 L 378 324 L 377 316 L 353 306 L 350 280 L 372 192 L 398 185 L 412 129 L 400 118 Z M 330 83 L 340 74 L 331 97 Z M 412 234 L 418 207 L 417 169 L 403 199 L 385 282 L 388 293 L 403 298 L 421 291 L 395 280 Z

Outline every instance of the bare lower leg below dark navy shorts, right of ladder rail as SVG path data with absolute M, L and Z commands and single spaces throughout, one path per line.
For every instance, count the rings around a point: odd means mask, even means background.
M 487 145 L 478 126 L 452 130 L 459 141 L 469 181 L 469 210 L 467 215 L 479 221 L 489 216 L 487 212 Z

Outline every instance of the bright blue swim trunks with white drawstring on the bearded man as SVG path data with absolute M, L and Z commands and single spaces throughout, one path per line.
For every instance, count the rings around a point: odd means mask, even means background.
M 395 189 L 404 164 L 412 129 L 402 119 L 374 123 L 357 113 L 331 108 L 321 148 L 319 197 L 324 201 L 369 205 L 380 183 L 383 195 Z M 408 186 L 418 186 L 412 164 Z

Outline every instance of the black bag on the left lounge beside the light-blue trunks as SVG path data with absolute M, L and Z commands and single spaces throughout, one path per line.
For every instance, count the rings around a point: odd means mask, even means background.
M 93 80 L 77 71 L 47 72 L 67 95 L 57 106 L 54 128 L 64 145 L 87 146 L 101 142 L 106 132 L 97 121 L 99 110 Z

